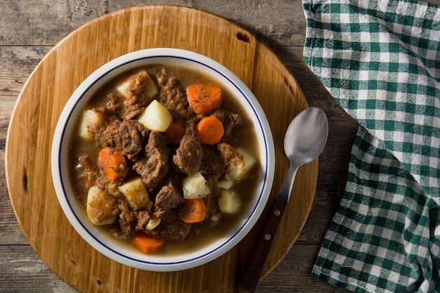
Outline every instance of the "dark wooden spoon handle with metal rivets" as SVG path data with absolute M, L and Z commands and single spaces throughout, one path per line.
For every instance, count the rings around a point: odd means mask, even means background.
M 249 266 L 247 266 L 245 275 L 242 278 L 240 287 L 245 289 L 245 291 L 242 292 L 253 293 L 257 288 L 257 284 L 261 277 L 261 271 L 263 270 L 266 257 L 269 249 L 271 248 L 273 238 L 276 230 L 278 229 L 278 225 L 281 221 L 281 216 L 283 216 L 286 205 L 287 202 L 277 199 L 274 200 L 270 214 L 268 214 L 268 218 L 266 219 L 266 225 L 264 226 L 263 233 L 261 233 L 257 247 L 254 249 L 254 255 L 252 256 Z

